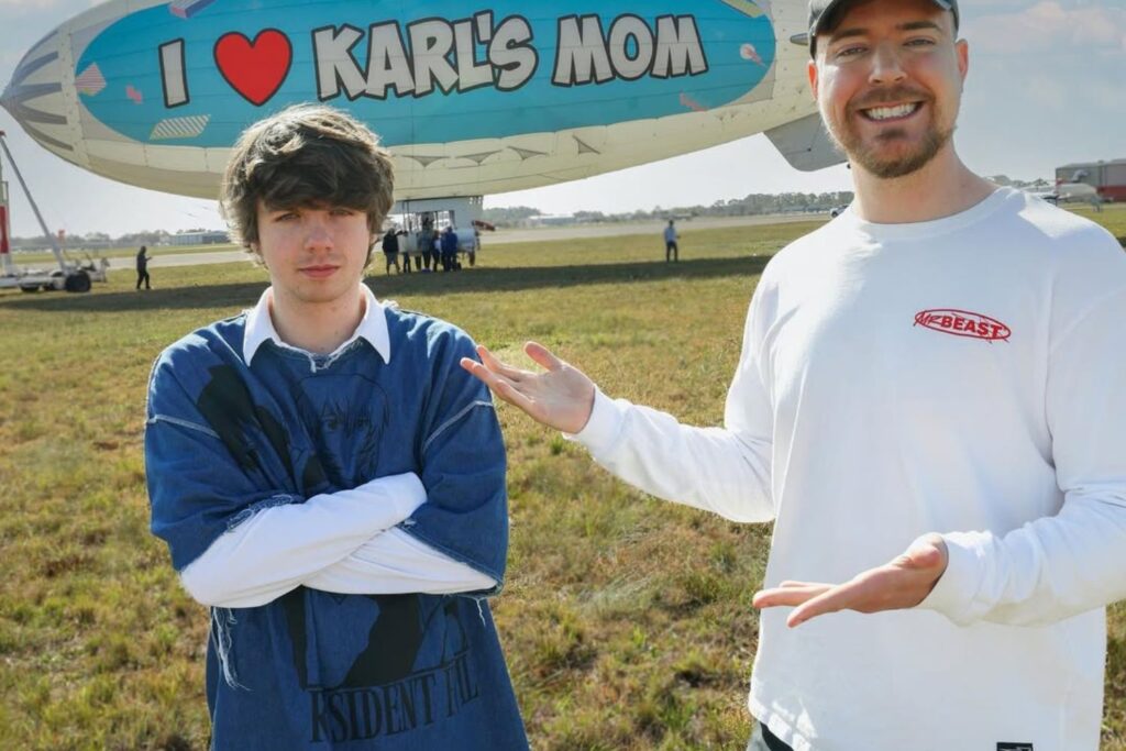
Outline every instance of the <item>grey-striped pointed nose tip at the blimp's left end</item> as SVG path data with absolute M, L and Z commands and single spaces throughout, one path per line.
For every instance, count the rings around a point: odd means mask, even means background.
M 16 66 L 0 95 L 0 106 L 39 144 L 73 161 L 60 57 L 60 35 L 48 34 Z

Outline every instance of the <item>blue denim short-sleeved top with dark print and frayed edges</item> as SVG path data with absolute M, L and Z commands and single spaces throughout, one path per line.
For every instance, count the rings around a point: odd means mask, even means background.
M 245 314 L 158 358 L 145 471 L 152 530 L 178 571 L 256 510 L 413 472 L 427 501 L 401 528 L 502 581 L 504 446 L 488 391 L 458 365 L 473 342 L 384 311 L 390 363 L 357 339 L 331 358 L 267 341 L 248 365 Z M 260 607 L 215 608 L 213 746 L 526 749 L 483 594 L 298 587 Z

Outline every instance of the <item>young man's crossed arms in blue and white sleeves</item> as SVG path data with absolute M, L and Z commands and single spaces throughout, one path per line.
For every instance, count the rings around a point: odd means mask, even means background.
M 263 444 L 248 471 L 175 381 L 159 381 L 145 430 L 152 529 L 169 543 L 189 593 L 205 605 L 254 607 L 298 585 L 495 590 L 507 539 L 503 447 L 491 404 L 474 397 L 484 390 L 462 381 L 444 391 L 450 403 L 436 409 L 437 424 L 427 423 L 418 474 L 305 499 L 292 494 L 280 455 Z

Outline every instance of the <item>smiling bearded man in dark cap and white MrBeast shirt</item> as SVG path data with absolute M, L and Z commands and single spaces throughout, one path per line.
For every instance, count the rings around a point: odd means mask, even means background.
M 962 163 L 957 12 L 811 2 L 811 89 L 856 200 L 762 272 L 722 429 L 610 400 L 535 343 L 545 373 L 463 360 L 627 482 L 775 521 L 753 750 L 1099 744 L 1126 256 Z

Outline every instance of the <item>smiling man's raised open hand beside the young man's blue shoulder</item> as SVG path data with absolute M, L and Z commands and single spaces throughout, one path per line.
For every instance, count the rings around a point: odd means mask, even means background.
M 481 363 L 462 358 L 462 367 L 484 382 L 502 400 L 524 410 L 531 419 L 563 432 L 579 432 L 595 406 L 595 382 L 578 368 L 555 357 L 543 345 L 529 341 L 524 351 L 543 366 L 543 373 L 521 370 L 477 347 Z

